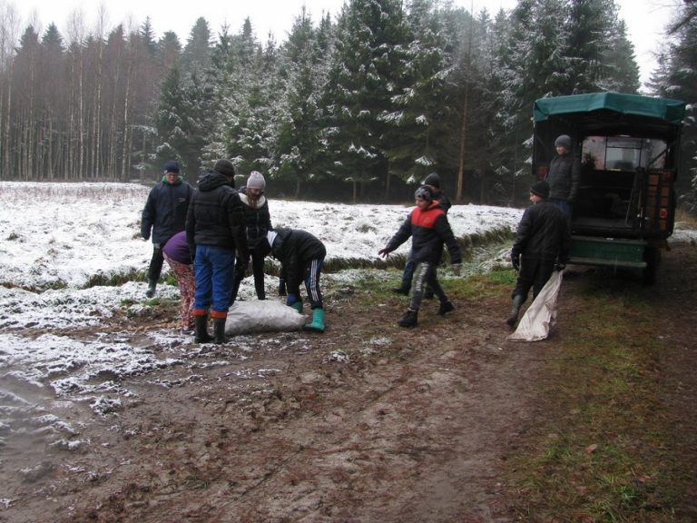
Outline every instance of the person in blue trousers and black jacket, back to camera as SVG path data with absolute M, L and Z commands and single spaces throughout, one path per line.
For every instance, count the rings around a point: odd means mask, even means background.
M 186 241 L 194 252 L 196 290 L 193 298 L 195 340 L 211 340 L 208 310 L 213 319 L 213 341 L 224 343 L 225 321 L 234 282 L 235 250 L 249 256 L 244 212 L 234 189 L 235 168 L 219 160 L 213 170 L 201 174 L 186 219 Z

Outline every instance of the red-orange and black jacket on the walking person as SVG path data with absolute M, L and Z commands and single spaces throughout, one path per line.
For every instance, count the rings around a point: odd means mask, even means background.
M 439 263 L 444 242 L 450 253 L 450 263 L 462 262 L 460 247 L 447 221 L 446 212 L 437 200 L 431 202 L 427 210 L 422 211 L 417 207 L 409 214 L 407 220 L 388 242 L 388 251 L 395 251 L 399 245 L 407 242 L 409 236 L 411 236 L 411 253 L 415 263 Z

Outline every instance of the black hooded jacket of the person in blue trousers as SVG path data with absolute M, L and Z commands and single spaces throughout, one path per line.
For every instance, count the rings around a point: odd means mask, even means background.
M 224 174 L 211 170 L 201 174 L 189 205 L 186 241 L 192 252 L 194 245 L 209 245 L 249 255 L 240 194 Z

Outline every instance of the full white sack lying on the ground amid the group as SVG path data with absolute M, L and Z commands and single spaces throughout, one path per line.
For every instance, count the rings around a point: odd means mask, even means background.
M 225 333 L 298 331 L 304 324 L 305 316 L 280 301 L 235 301 L 228 311 Z

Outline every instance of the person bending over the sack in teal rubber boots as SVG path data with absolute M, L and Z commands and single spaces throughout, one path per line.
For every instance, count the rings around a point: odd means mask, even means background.
M 271 255 L 280 262 L 280 273 L 286 281 L 286 305 L 302 313 L 300 283 L 305 283 L 312 321 L 304 328 L 324 332 L 324 305 L 319 288 L 319 275 L 327 255 L 324 243 L 301 229 L 276 229 L 266 235 L 266 242 L 257 246 L 261 255 Z

